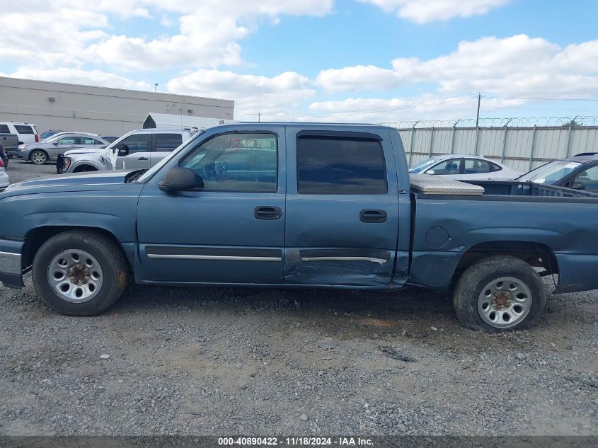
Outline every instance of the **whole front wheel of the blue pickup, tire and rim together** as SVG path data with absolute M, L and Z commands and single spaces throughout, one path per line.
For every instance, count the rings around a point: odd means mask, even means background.
M 95 316 L 127 285 L 127 260 L 102 234 L 69 231 L 52 236 L 33 258 L 33 285 L 42 300 L 68 316 Z

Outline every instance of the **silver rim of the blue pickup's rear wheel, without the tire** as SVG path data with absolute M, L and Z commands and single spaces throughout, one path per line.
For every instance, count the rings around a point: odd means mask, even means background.
M 531 310 L 529 287 L 516 277 L 500 277 L 488 282 L 478 296 L 478 313 L 495 328 L 512 328 Z

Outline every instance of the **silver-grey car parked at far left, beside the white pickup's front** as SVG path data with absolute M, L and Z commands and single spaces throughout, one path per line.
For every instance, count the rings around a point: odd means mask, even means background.
M 98 134 L 88 132 L 59 132 L 43 142 L 23 144 L 18 147 L 17 159 L 30 160 L 35 165 L 43 165 L 47 161 L 55 160 L 58 154 L 69 149 L 85 147 L 99 148 L 108 146 L 108 142 Z

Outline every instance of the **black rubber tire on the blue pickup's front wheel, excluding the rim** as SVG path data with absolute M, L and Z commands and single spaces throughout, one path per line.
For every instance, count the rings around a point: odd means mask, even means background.
M 69 249 L 86 251 L 100 265 L 103 284 L 96 296 L 82 303 L 60 297 L 50 285 L 50 261 Z M 117 301 L 127 285 L 129 265 L 122 249 L 113 240 L 94 231 L 67 231 L 42 244 L 33 258 L 33 285 L 50 308 L 67 316 L 96 316 Z

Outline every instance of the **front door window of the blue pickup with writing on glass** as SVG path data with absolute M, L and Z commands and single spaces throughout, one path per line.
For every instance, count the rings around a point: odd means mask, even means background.
M 222 134 L 203 142 L 180 166 L 204 182 L 205 191 L 276 193 L 278 145 L 275 134 Z

